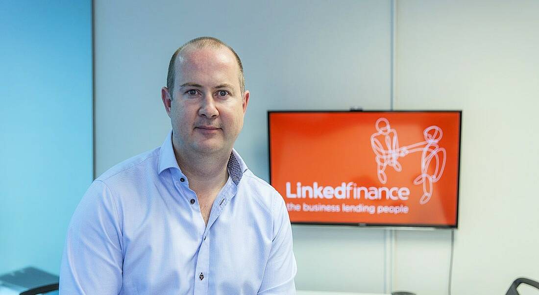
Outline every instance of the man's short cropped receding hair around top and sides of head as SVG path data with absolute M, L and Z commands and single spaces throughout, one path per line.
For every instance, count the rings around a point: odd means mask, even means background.
M 234 57 L 236 57 L 236 61 L 238 63 L 238 67 L 239 67 L 239 77 L 238 77 L 239 86 L 240 86 L 241 94 L 243 95 L 243 93 L 245 92 L 245 77 L 243 76 L 243 65 L 241 65 L 241 60 L 239 59 L 239 56 L 236 53 L 236 51 L 234 51 L 232 49 L 232 47 L 230 47 L 229 45 L 227 45 L 226 43 L 224 43 L 223 41 L 221 41 L 221 40 L 219 40 L 217 38 L 198 37 L 198 38 L 192 39 L 189 42 L 187 42 L 187 43 L 183 44 L 182 46 L 180 46 L 174 52 L 174 54 L 172 54 L 172 58 L 170 58 L 169 71 L 168 71 L 168 75 L 167 75 L 167 88 L 169 89 L 169 92 L 170 92 L 170 98 L 172 98 L 172 92 L 174 91 L 174 81 L 176 80 L 176 71 L 175 71 L 174 65 L 176 63 L 176 59 L 178 57 L 178 54 L 181 54 L 182 50 L 184 50 L 184 49 L 186 49 L 188 47 L 195 47 L 195 48 L 198 48 L 198 49 L 208 48 L 208 47 L 213 48 L 213 49 L 220 49 L 223 46 L 230 49 L 230 51 L 232 51 L 232 53 L 234 53 Z

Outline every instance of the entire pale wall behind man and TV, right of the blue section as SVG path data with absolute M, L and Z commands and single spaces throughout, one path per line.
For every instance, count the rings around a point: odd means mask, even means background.
M 397 1 L 397 109 L 462 109 L 453 294 L 539 279 L 538 2 Z M 236 143 L 268 179 L 267 109 L 388 109 L 389 1 L 95 1 L 96 173 L 160 145 L 170 55 L 231 44 L 251 101 Z M 534 15 L 535 13 L 535 15 Z M 294 226 L 298 289 L 382 292 L 385 231 Z M 447 293 L 451 232 L 398 231 L 393 290 Z

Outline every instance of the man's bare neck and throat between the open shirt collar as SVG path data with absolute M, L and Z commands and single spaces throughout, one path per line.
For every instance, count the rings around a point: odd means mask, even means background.
M 189 180 L 189 187 L 198 197 L 220 190 L 229 178 L 227 163 L 232 151 L 199 154 L 174 147 L 176 161 Z

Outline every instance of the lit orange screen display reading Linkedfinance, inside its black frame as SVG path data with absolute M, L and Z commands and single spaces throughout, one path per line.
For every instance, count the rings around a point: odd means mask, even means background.
M 457 228 L 460 111 L 268 112 L 295 224 Z

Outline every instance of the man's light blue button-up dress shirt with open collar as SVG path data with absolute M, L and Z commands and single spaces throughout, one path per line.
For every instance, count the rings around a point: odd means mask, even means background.
M 232 150 L 206 226 L 171 134 L 109 169 L 82 197 L 60 294 L 295 294 L 283 198 Z

